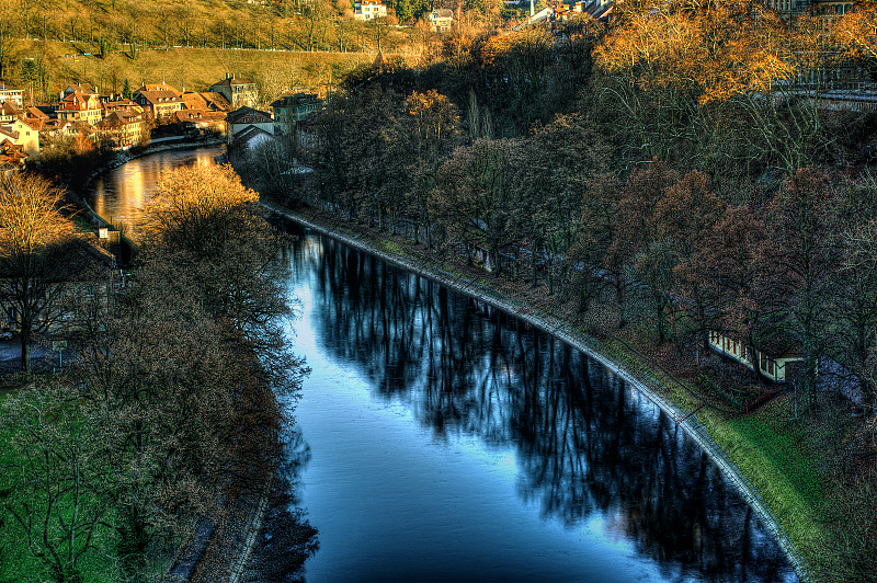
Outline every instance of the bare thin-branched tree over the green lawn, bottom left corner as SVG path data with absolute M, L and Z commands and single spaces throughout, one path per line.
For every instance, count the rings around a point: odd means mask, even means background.
M 0 428 L 16 451 L 0 473 L 0 508 L 48 580 L 82 581 L 81 565 L 102 550 L 96 535 L 112 508 L 107 421 L 57 380 L 0 405 Z

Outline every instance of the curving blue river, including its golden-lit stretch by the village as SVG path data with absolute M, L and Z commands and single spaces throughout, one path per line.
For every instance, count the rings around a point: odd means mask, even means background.
M 149 158 L 104 179 L 114 208 L 148 198 Z M 312 368 L 296 506 L 319 549 L 277 581 L 797 581 L 636 389 L 489 306 L 291 229 L 288 333 Z

